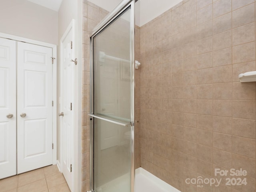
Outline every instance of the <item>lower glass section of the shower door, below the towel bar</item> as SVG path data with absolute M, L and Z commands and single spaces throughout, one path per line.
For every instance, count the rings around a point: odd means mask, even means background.
M 129 132 L 130 126 L 121 126 L 94 118 L 94 190 L 95 192 L 131 191 L 131 136 L 122 145 L 101 149 L 101 135 L 112 127 Z

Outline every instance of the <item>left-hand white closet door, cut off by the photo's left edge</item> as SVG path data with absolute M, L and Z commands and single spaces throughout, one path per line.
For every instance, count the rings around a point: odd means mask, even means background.
M 16 41 L 0 38 L 0 179 L 15 174 Z

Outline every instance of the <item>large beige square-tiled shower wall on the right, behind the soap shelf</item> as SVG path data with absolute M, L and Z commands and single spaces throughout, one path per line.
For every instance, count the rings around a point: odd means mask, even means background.
M 182 192 L 255 192 L 255 0 L 184 0 L 140 28 L 141 166 Z M 186 184 L 247 170 L 246 186 Z

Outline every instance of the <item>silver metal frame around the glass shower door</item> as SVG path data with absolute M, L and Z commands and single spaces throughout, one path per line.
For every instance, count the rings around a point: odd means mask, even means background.
M 89 187 L 90 192 L 94 192 L 94 118 L 100 118 L 94 115 L 94 53 L 93 53 L 93 38 L 102 30 L 108 27 L 120 14 L 127 8 L 131 8 L 131 21 L 130 21 L 130 61 L 131 61 L 131 74 L 130 74 L 130 126 L 131 126 L 131 192 L 134 192 L 134 65 L 135 65 L 135 2 L 137 0 L 122 0 L 112 12 L 110 12 L 104 20 L 102 20 L 92 31 L 90 36 L 90 178 Z M 102 119 L 102 118 L 101 118 Z M 106 121 L 108 121 L 106 119 Z M 115 122 L 113 122 L 115 123 Z M 119 122 L 116 122 L 118 124 Z

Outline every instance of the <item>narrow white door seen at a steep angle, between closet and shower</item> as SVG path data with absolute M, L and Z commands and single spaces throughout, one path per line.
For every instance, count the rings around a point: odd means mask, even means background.
M 74 46 L 71 49 L 73 33 L 72 29 L 68 32 L 62 42 L 62 62 L 61 62 L 61 104 L 60 110 L 63 116 L 60 116 L 60 129 L 62 132 L 62 172 L 72 191 L 72 162 L 73 162 L 73 111 L 71 103 L 74 94 Z

